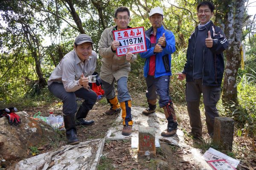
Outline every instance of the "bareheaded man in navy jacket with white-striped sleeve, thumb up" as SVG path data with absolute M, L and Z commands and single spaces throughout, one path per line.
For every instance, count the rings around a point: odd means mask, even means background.
M 224 72 L 223 51 L 229 45 L 221 28 L 211 21 L 213 10 L 213 4 L 208 1 L 197 6 L 200 24 L 195 27 L 195 31 L 189 37 L 184 70 L 177 74 L 180 80 L 186 78 L 187 110 L 191 135 L 195 138 L 202 136 L 199 110 L 201 94 L 204 99 L 208 134 L 213 136 L 214 118 L 218 117 L 216 104 L 220 98 Z

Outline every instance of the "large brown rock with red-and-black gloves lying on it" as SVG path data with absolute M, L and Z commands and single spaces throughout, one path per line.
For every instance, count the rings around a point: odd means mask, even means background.
M 21 118 L 17 126 L 11 126 L 6 117 L 0 118 L 0 159 L 6 161 L 26 157 L 28 147 L 48 143 L 56 135 L 41 119 L 35 120 L 22 111 L 16 114 Z

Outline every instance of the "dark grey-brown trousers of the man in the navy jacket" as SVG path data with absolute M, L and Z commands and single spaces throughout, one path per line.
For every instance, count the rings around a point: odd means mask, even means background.
M 191 132 L 196 136 L 202 136 L 202 123 L 199 110 L 201 94 L 204 99 L 204 110 L 208 134 L 213 136 L 214 118 L 218 117 L 216 104 L 220 99 L 221 88 L 202 85 L 202 79 L 194 79 L 186 83 L 186 103 L 189 113 Z

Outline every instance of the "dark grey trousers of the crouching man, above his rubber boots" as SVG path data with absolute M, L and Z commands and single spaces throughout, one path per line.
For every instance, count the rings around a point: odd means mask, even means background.
M 84 99 L 82 105 L 86 110 L 91 110 L 93 105 L 96 103 L 97 94 L 90 89 L 87 91 L 85 88 L 80 88 L 75 92 L 67 92 L 64 89 L 64 85 L 62 83 L 52 82 L 51 85 L 48 86 L 49 91 L 63 102 L 62 112 L 64 115 L 74 115 L 77 111 L 77 103 L 76 96 Z

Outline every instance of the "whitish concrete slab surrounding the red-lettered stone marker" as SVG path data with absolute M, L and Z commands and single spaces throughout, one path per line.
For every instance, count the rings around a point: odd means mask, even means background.
M 155 129 L 155 145 L 156 147 L 160 147 L 159 139 L 164 142 L 168 142 L 169 144 L 175 145 L 177 147 L 187 147 L 184 142 L 183 132 L 180 129 L 177 129 L 177 134 L 172 137 L 163 137 L 161 136 L 161 132 L 167 128 L 167 120 L 164 114 L 162 113 L 152 113 L 149 116 L 145 116 L 142 114 L 142 111 L 145 108 L 132 106 L 131 107 L 131 114 L 133 117 L 134 125 L 132 127 L 132 133 L 130 136 L 123 136 L 122 135 L 122 112 L 116 119 L 116 126 L 111 127 L 108 130 L 107 138 L 111 140 L 121 140 L 121 139 L 131 139 L 131 147 L 137 148 L 139 144 L 139 127 L 152 127 Z

